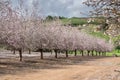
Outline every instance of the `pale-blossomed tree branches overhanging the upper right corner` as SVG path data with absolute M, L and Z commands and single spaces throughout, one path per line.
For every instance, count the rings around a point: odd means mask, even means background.
M 93 8 L 90 11 L 92 15 L 105 18 L 106 22 L 102 27 L 107 27 L 106 34 L 111 37 L 120 36 L 120 0 L 86 0 L 83 4 Z

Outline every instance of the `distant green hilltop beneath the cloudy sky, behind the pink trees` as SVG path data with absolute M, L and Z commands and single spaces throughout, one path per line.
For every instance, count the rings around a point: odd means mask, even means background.
M 91 21 L 89 24 L 95 24 L 95 25 L 99 25 L 101 23 L 104 22 L 104 18 L 102 17 L 94 17 L 94 18 L 90 18 L 90 17 L 72 17 L 72 18 L 67 18 L 67 17 L 62 17 L 62 16 L 47 16 L 46 20 L 54 20 L 56 18 L 59 18 L 64 25 L 71 25 L 71 26 L 79 26 L 79 25 L 84 25 L 84 24 L 88 24 L 88 20 L 92 19 L 93 21 Z

